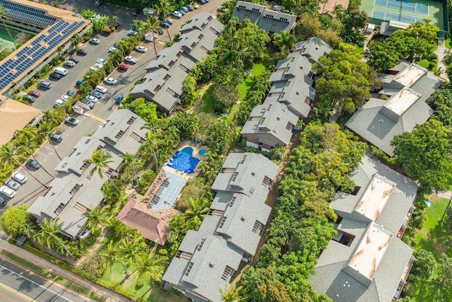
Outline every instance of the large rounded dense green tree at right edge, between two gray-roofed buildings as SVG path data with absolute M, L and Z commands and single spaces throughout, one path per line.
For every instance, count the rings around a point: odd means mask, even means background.
M 427 192 L 446 190 L 452 168 L 451 130 L 437 120 L 417 125 L 391 141 L 398 162 Z

